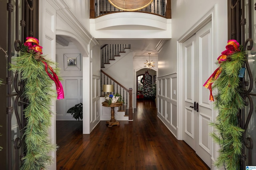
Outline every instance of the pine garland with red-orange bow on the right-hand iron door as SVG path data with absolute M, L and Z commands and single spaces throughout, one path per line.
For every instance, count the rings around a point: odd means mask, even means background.
M 242 135 L 244 130 L 239 126 L 239 110 L 244 108 L 244 100 L 240 93 L 241 70 L 245 61 L 245 53 L 236 40 L 229 40 L 226 50 L 218 57 L 220 65 L 204 86 L 210 90 L 210 100 L 214 101 L 219 115 L 211 123 L 216 132 L 212 133 L 214 141 L 220 145 L 219 156 L 214 162 L 218 168 L 224 166 L 228 170 L 238 170 L 242 156 Z M 214 83 L 214 84 L 213 84 Z M 212 86 L 213 84 L 213 86 Z M 216 95 L 212 96 L 212 90 Z

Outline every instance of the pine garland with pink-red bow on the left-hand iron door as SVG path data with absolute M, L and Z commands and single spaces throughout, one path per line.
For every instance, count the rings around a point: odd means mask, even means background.
M 48 137 L 51 126 L 51 102 L 56 98 L 52 88 L 52 80 L 56 84 L 57 99 L 64 98 L 62 84 L 50 65 L 54 65 L 42 57 L 42 47 L 38 39 L 27 37 L 22 45 L 20 55 L 11 65 L 11 70 L 21 74 L 24 80 L 24 98 L 28 106 L 24 109 L 26 127 L 24 143 L 25 156 L 22 158 L 21 170 L 45 170 L 52 163 L 49 152 L 58 148 Z

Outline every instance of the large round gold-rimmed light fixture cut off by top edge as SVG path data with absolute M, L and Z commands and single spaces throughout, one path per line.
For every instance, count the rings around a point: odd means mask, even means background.
M 114 7 L 123 11 L 138 11 L 146 8 L 153 0 L 108 0 Z

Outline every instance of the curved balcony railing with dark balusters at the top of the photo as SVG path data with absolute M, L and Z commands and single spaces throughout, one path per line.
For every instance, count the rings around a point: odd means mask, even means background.
M 90 18 L 97 18 L 114 12 L 124 11 L 112 6 L 108 0 L 90 0 Z M 171 0 L 153 0 L 149 6 L 136 12 L 146 12 L 164 18 L 171 18 Z

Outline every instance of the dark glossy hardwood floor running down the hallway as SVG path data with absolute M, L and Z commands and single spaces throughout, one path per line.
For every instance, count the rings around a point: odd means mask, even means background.
M 57 170 L 209 170 L 156 115 L 154 101 L 137 101 L 134 121 L 100 121 L 90 135 L 82 121 L 57 121 Z

